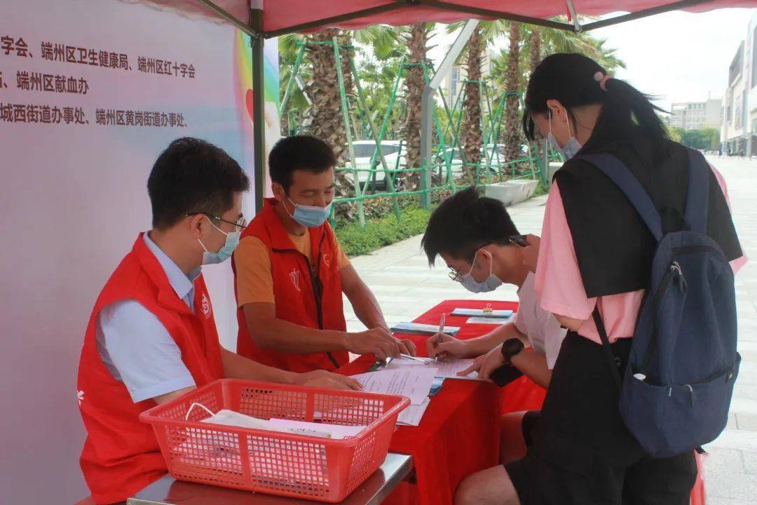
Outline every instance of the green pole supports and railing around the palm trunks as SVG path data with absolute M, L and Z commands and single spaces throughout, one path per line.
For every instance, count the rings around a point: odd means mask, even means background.
M 338 40 L 332 39 L 326 42 L 301 42 L 297 59 L 291 77 L 285 87 L 284 97 L 282 98 L 282 114 L 288 114 L 287 119 L 290 121 L 289 132 L 298 132 L 298 126 L 301 125 L 301 111 L 288 110 L 288 99 L 291 96 L 292 86 L 298 76 L 298 70 L 304 60 L 305 51 L 312 48 L 313 45 L 331 45 L 334 51 L 335 61 L 340 62 L 340 55 L 343 51 L 348 51 L 350 57 L 349 72 L 355 86 L 355 93 L 348 95 L 344 85 L 344 74 L 341 64 L 336 64 L 336 80 L 339 87 L 341 99 L 341 114 L 344 121 L 344 130 L 347 136 L 348 160 L 344 167 L 336 169 L 339 177 L 338 180 L 344 182 L 349 180 L 350 187 L 341 187 L 344 195 L 334 200 L 334 208 L 340 204 L 354 204 L 357 207 L 357 219 L 361 226 L 365 225 L 366 213 L 364 204 L 366 201 L 375 198 L 387 198 L 391 201 L 391 208 L 400 219 L 402 216 L 402 207 L 400 198 L 418 195 L 420 201 L 428 208 L 429 202 L 439 192 L 456 192 L 470 185 L 487 185 L 500 182 L 507 179 L 544 179 L 547 174 L 547 167 L 542 167 L 544 161 L 540 160 L 538 149 L 535 144 L 525 143 L 522 145 L 522 157 L 515 160 L 506 160 L 503 152 L 503 145 L 497 143 L 501 137 L 503 114 L 506 110 L 506 101 L 513 95 L 518 97 L 519 110 L 523 110 L 522 95 L 520 93 L 500 93 L 497 95 L 494 87 L 484 80 L 465 81 L 460 86 L 459 92 L 454 97 L 453 105 L 450 108 L 447 103 L 447 97 L 444 92 L 438 90 L 438 102 L 441 102 L 441 116 L 438 111 L 434 112 L 434 132 L 435 145 L 431 161 L 423 161 L 422 166 L 418 168 L 407 168 L 402 163 L 403 151 L 406 150 L 404 142 L 400 141 L 393 162 L 387 161 L 387 155 L 384 154 L 382 147 L 385 146 L 385 139 L 388 134 L 388 125 L 390 123 L 394 108 L 397 104 L 397 95 L 400 90 L 400 84 L 403 77 L 410 67 L 422 67 L 425 82 L 428 82 L 433 75 L 433 69 L 428 67 L 426 62 L 409 63 L 404 58 L 400 62 L 400 68 L 394 79 L 392 92 L 387 109 L 384 111 L 381 126 L 376 125 L 378 111 L 369 111 L 366 105 L 365 95 L 360 85 L 360 78 L 352 58 L 354 49 L 351 45 L 340 45 Z M 462 104 L 466 100 L 466 92 L 470 84 L 478 85 L 481 96 L 481 131 L 483 142 L 481 147 L 481 161 L 471 162 L 466 160 L 465 153 L 460 142 L 460 129 L 463 123 Z M 444 120 L 444 121 L 443 121 Z M 446 125 L 443 123 L 446 121 Z M 360 122 L 360 124 L 357 124 Z M 354 150 L 354 141 L 356 137 L 363 136 L 365 139 L 372 141 L 375 145 L 370 160 L 367 164 L 357 164 L 357 156 Z M 409 173 L 417 173 L 419 187 L 404 187 L 407 183 Z M 351 179 L 351 180 L 350 180 Z M 430 181 L 430 184 L 428 183 Z M 332 214 L 333 219 L 333 214 Z

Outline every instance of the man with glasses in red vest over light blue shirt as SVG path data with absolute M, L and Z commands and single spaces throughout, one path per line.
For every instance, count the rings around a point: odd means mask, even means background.
M 359 388 L 327 372 L 291 373 L 220 347 L 201 265 L 221 263 L 245 227 L 249 181 L 222 149 L 178 139 L 148 179 L 153 223 L 102 289 L 79 360 L 87 430 L 81 466 L 96 503 L 126 500 L 166 473 L 139 413 L 216 379 Z

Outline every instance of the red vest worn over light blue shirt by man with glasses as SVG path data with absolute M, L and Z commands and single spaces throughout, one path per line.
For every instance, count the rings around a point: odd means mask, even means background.
M 196 313 L 192 313 L 173 291 L 140 233 L 95 302 L 79 359 L 77 394 L 87 430 L 79 463 L 95 503 L 126 500 L 167 472 L 152 427 L 138 419 L 155 402 L 135 404 L 97 350 L 100 310 L 125 299 L 139 301 L 164 324 L 198 387 L 223 377 L 213 308 L 202 276 L 195 280 Z

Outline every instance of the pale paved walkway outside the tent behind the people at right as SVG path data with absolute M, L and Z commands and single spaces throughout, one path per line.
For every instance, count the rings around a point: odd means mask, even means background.
M 743 357 L 727 429 L 707 447 L 705 479 L 708 505 L 757 505 L 757 161 L 712 158 L 728 185 L 734 220 L 752 263 L 737 276 L 739 351 Z M 508 209 L 521 233 L 540 234 L 546 197 Z M 354 267 L 375 293 L 390 325 L 412 320 L 442 300 L 497 298 L 516 300 L 516 289 L 503 286 L 475 295 L 447 276 L 444 261 L 435 268 L 420 248 L 420 236 L 356 257 Z M 347 328 L 364 326 L 345 300 Z

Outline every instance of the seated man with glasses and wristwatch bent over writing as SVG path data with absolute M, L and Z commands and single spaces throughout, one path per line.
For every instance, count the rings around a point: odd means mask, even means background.
M 431 214 L 423 235 L 422 246 L 433 265 L 441 256 L 450 269 L 450 278 L 474 293 L 494 291 L 503 283 L 518 286 L 519 310 L 511 323 L 470 340 L 458 340 L 450 335 L 428 338 L 428 355 L 441 360 L 475 358 L 472 366 L 461 375 L 478 371 L 488 380 L 500 366 L 512 366 L 538 385 L 547 388 L 552 368 L 557 360 L 565 329 L 554 316 L 540 307 L 534 291 L 536 237 L 529 236 L 534 246 L 522 247 L 513 237 L 518 230 L 501 201 L 478 195 L 475 188 L 457 192 L 442 201 Z M 511 240 L 512 239 L 512 240 Z M 531 352 L 525 352 L 525 345 Z M 512 376 L 512 374 L 508 374 Z M 536 413 L 516 413 L 503 419 L 503 427 L 513 423 L 528 432 Z M 512 433 L 512 429 L 503 432 Z M 503 436 L 500 457 L 515 459 L 525 448 L 522 441 L 514 444 Z

